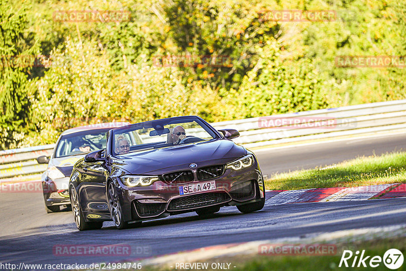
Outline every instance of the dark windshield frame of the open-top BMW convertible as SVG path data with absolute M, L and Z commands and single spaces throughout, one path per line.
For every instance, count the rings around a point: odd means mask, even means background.
M 156 127 L 158 125 L 164 126 L 168 124 L 176 124 L 176 123 L 184 123 L 184 122 L 196 122 L 199 124 L 203 129 L 205 129 L 213 139 L 211 140 L 216 140 L 216 139 L 221 139 L 223 136 L 220 134 L 219 131 L 217 131 L 215 128 L 213 128 L 212 125 L 210 125 L 207 121 L 204 119 L 198 117 L 198 116 L 183 116 L 183 117 L 173 117 L 173 118 L 166 118 L 166 119 L 158 119 L 158 120 L 150 120 L 150 121 L 144 121 L 144 122 L 139 122 L 131 125 L 127 125 L 124 127 L 119 127 L 119 128 L 114 128 L 111 129 L 107 135 L 107 150 L 108 154 L 111 156 L 117 157 L 119 154 L 116 154 L 113 151 L 114 148 L 114 139 L 116 134 L 124 133 L 124 132 L 129 132 L 133 131 L 136 129 L 141 129 L 144 126 L 152 126 Z M 205 141 L 206 142 L 206 141 Z M 166 146 L 169 147 L 169 146 Z M 137 153 L 137 152 L 130 152 L 132 154 Z

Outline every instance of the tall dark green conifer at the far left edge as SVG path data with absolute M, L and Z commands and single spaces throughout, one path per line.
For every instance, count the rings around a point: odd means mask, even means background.
M 0 148 L 10 148 L 21 141 L 30 116 L 27 73 L 38 54 L 32 33 L 26 31 L 26 7 L 13 8 L 0 1 Z M 30 62 L 26 62 L 30 61 Z M 32 83 L 32 81 L 31 81 Z

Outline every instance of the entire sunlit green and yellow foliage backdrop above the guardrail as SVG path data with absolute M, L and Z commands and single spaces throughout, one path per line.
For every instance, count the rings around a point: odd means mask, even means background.
M 0 1 L 0 54 L 52 61 L 2 67 L 0 148 L 53 143 L 62 130 L 95 122 L 186 114 L 223 121 L 406 98 L 404 69 L 334 62 L 405 56 L 402 1 L 17 0 L 18 12 Z M 55 11 L 102 9 L 130 12 L 131 20 L 53 20 Z M 261 15 L 289 9 L 338 17 L 275 22 Z M 174 57 L 196 61 L 160 65 Z

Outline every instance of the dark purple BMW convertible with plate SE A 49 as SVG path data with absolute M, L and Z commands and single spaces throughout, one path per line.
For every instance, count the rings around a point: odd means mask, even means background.
M 96 229 L 113 221 L 122 229 L 187 212 L 210 215 L 224 206 L 261 210 L 262 173 L 255 155 L 231 141 L 239 135 L 197 116 L 109 130 L 106 148 L 74 165 L 69 193 L 76 226 Z

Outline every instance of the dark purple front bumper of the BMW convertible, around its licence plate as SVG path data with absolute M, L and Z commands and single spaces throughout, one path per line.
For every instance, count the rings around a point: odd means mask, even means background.
M 143 221 L 193 212 L 210 206 L 235 206 L 264 197 L 262 174 L 257 164 L 242 170 L 226 169 L 218 178 L 184 184 L 157 181 L 148 187 L 121 187 L 126 221 Z M 216 189 L 180 195 L 179 187 L 214 181 Z

